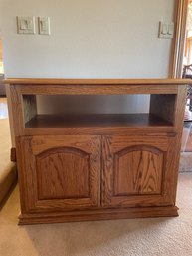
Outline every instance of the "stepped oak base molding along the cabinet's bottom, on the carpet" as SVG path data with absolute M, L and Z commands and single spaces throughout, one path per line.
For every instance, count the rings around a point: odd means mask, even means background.
M 21 213 L 19 216 L 19 225 L 177 216 L 178 208 L 176 206 L 98 209 L 73 212 L 43 212 L 30 214 Z

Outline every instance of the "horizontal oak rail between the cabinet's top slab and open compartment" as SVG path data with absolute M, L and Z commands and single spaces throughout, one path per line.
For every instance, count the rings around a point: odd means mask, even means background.
M 19 84 L 15 87 L 22 95 L 177 94 L 178 89 L 177 84 Z

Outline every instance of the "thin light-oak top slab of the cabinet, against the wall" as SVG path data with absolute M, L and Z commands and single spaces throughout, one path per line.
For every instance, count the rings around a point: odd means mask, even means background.
M 38 85 L 186 85 L 190 79 L 54 79 L 54 78 L 8 78 L 4 84 Z

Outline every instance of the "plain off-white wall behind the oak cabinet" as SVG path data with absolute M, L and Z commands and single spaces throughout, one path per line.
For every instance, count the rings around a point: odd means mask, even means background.
M 158 24 L 173 20 L 174 4 L 174 0 L 0 0 L 5 75 L 166 78 L 172 40 L 158 38 Z M 18 35 L 16 16 L 30 15 L 49 16 L 51 35 Z M 45 111 L 43 101 L 38 101 L 40 112 Z M 91 101 L 93 108 L 96 102 Z M 117 112 L 124 112 L 124 106 L 130 112 L 133 108 L 145 112 L 148 97 L 108 99 L 100 110 L 107 112 L 109 106 L 116 106 Z

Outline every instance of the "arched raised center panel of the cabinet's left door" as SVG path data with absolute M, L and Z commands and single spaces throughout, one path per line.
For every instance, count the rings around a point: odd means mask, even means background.
M 90 154 L 73 147 L 36 156 L 38 199 L 89 198 Z

